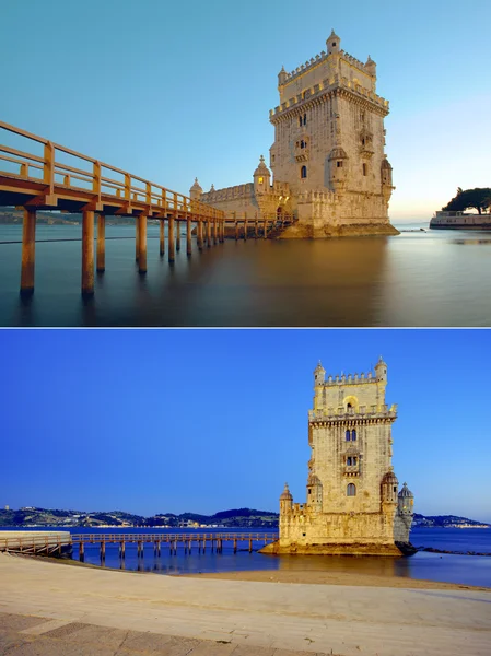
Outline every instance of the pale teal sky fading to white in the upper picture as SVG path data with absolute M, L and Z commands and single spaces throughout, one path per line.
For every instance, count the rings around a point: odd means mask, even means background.
M 3 0 L 0 118 L 187 192 L 252 181 L 277 74 L 341 47 L 390 101 L 393 220 L 488 187 L 489 0 Z

